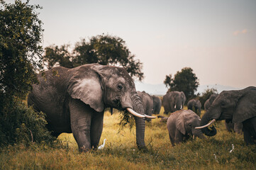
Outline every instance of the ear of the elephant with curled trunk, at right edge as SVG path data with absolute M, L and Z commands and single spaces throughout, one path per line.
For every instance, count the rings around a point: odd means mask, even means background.
M 233 123 L 242 123 L 243 121 L 256 116 L 256 90 L 248 91 L 241 96 L 235 108 Z

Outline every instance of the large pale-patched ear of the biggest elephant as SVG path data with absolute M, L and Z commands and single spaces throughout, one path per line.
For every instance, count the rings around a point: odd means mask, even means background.
M 96 65 L 95 65 L 96 66 Z M 75 68 L 69 79 L 67 92 L 72 98 L 77 98 L 88 104 L 97 112 L 104 111 L 101 76 L 93 64 Z

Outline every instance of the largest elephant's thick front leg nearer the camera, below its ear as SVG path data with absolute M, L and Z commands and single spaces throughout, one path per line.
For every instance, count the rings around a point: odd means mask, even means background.
M 79 152 L 91 149 L 91 117 L 94 110 L 78 99 L 69 103 L 71 129 L 77 141 Z

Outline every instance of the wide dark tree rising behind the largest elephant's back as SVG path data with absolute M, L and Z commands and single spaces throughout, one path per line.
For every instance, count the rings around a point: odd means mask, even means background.
M 82 64 L 99 63 L 124 67 L 131 77 L 143 79 L 143 64 L 140 60 L 135 60 L 135 55 L 130 53 L 122 38 L 102 34 L 91 37 L 89 41 L 82 39 L 75 44 L 72 52 L 69 52 L 68 47 L 69 45 L 51 45 L 45 48 L 44 57 L 48 69 L 55 65 L 73 68 Z

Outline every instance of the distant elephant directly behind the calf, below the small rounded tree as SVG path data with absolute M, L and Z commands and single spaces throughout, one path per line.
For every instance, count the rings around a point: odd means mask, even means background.
M 174 112 L 181 110 L 184 106 L 185 101 L 187 100 L 183 91 L 171 91 L 167 92 L 162 98 L 162 106 L 165 108 L 165 114 L 169 112 Z

